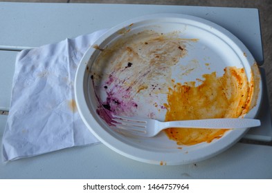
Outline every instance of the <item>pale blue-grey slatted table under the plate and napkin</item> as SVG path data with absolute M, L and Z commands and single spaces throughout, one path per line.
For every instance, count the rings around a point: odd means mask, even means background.
M 0 110 L 9 109 L 15 57 L 19 50 L 110 28 L 143 14 L 166 12 L 191 14 L 223 26 L 244 42 L 260 65 L 263 63 L 256 9 L 0 3 Z M 257 132 L 248 132 L 244 139 L 271 141 L 271 114 L 267 100 L 264 92 L 259 117 L 262 128 Z M 0 115 L 0 137 L 6 119 L 6 115 Z M 206 161 L 161 166 L 127 159 L 100 144 L 69 148 L 10 163 L 0 162 L 0 179 L 271 179 L 271 163 L 272 147 L 269 145 L 237 143 Z

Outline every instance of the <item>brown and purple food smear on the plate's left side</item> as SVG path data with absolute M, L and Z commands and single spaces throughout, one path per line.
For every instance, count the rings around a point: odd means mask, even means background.
M 172 85 L 171 67 L 187 54 L 185 44 L 196 41 L 145 30 L 126 32 L 105 48 L 96 46 L 100 53 L 91 67 L 91 78 L 100 117 L 111 125 L 112 114 L 136 116 L 145 103 L 156 101 L 158 93 L 166 94 Z M 163 103 L 156 103 L 156 108 L 165 110 Z M 154 116 L 152 110 L 146 114 Z

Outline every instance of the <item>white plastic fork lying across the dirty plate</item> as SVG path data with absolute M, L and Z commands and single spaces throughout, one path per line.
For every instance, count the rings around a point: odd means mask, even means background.
M 155 119 L 143 119 L 129 116 L 116 116 L 111 122 L 116 128 L 136 136 L 152 137 L 167 128 L 202 128 L 202 129 L 245 129 L 261 125 L 258 119 L 198 119 L 188 121 L 161 122 Z

